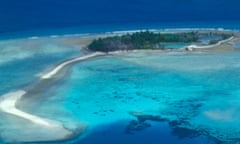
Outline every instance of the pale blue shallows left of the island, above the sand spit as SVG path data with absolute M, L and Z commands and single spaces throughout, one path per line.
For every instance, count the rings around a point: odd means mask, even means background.
M 81 55 L 80 47 L 62 39 L 0 41 L 0 95 L 25 87 L 57 63 Z

